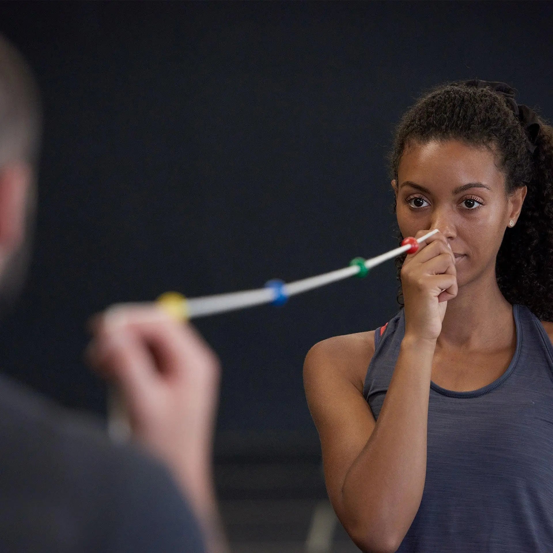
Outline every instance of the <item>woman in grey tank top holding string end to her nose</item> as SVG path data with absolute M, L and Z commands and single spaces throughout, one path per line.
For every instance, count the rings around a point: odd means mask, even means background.
M 553 128 L 507 85 L 421 97 L 390 156 L 404 304 L 307 354 L 328 495 L 364 551 L 553 550 Z

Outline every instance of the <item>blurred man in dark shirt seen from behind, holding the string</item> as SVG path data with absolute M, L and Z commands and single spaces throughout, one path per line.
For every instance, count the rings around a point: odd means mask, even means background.
M 0 37 L 0 305 L 27 260 L 39 135 L 33 77 Z M 139 444 L 115 446 L 0 377 L 0 551 L 226 550 L 211 470 L 215 355 L 154 306 L 112 309 L 91 331 L 87 358 L 118 385 Z

